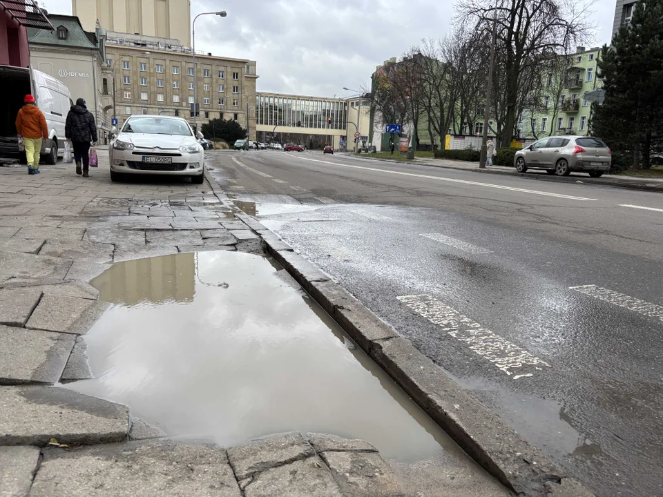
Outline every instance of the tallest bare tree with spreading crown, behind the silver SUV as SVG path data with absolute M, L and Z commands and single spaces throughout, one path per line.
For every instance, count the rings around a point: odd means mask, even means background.
M 484 0 L 459 0 L 455 7 L 457 23 L 468 32 L 490 30 L 497 11 L 496 59 L 501 61 L 504 88 L 496 100 L 503 99 L 506 110 L 501 146 L 509 146 L 519 107 L 529 98 L 526 86 L 534 75 L 541 81 L 541 61 L 550 52 L 568 52 L 588 39 L 588 6 L 573 0 L 495 0 L 492 6 Z

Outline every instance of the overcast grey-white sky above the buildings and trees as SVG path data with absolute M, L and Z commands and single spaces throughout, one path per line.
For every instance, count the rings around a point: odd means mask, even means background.
M 91 0 L 88 0 L 91 1 Z M 573 0 L 571 0 L 573 1 Z M 40 0 L 48 12 L 71 14 L 70 0 Z M 450 29 L 452 0 L 192 0 L 196 49 L 258 61 L 258 91 L 320 97 L 367 88 L 385 59 Z M 488 3 L 488 0 L 487 0 Z M 596 0 L 595 43 L 610 40 L 615 0 Z

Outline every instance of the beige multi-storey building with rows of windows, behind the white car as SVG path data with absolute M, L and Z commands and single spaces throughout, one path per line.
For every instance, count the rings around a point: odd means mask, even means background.
M 173 39 L 109 31 L 106 59 L 113 77 L 104 89 L 115 92 L 119 126 L 133 114 L 180 116 L 193 126 L 193 50 Z M 242 128 L 249 126 L 255 140 L 256 61 L 197 52 L 195 63 L 198 124 L 235 119 Z

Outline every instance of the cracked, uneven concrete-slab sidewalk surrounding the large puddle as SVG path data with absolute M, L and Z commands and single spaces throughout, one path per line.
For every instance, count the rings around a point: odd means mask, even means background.
M 73 165 L 0 168 L 0 496 L 384 496 L 398 481 L 362 440 L 297 432 L 223 449 L 167 440 L 131 406 L 54 386 L 91 378 L 84 335 L 112 262 L 262 253 L 251 220 L 209 184 L 112 183 Z M 255 226 L 253 226 L 255 228 Z

